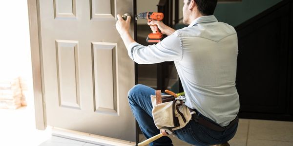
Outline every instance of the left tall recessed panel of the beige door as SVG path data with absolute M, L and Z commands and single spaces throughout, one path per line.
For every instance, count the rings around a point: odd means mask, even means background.
M 78 41 L 56 40 L 59 106 L 80 109 Z

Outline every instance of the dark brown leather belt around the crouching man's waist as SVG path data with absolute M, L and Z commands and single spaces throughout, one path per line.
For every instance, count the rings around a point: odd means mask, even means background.
M 190 108 L 189 108 L 189 110 L 194 111 L 193 109 L 190 109 Z M 197 120 L 196 120 L 196 118 L 197 118 L 197 113 L 192 114 L 192 119 L 195 122 L 198 122 L 200 125 L 203 125 L 207 128 L 215 130 L 215 131 L 223 132 L 224 130 L 229 129 L 236 124 L 236 122 L 238 121 L 238 114 L 237 114 L 236 118 L 234 120 L 232 120 L 228 126 L 225 126 L 225 127 L 221 127 L 219 125 L 216 125 L 201 116 L 198 116 Z

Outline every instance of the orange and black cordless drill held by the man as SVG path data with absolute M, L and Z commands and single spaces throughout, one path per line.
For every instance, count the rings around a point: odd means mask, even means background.
M 164 14 L 158 13 L 158 12 L 144 12 L 144 13 L 138 14 L 137 17 L 147 19 L 148 22 L 150 22 L 152 20 L 161 21 L 164 18 Z M 154 25 L 154 26 L 157 26 L 157 25 Z M 162 40 L 162 37 L 163 37 L 163 34 L 158 29 L 155 33 L 153 32 L 153 33 L 148 34 L 146 41 L 148 43 L 157 43 Z

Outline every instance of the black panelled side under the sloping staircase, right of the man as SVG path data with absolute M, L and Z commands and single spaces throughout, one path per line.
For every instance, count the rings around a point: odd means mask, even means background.
M 239 117 L 293 121 L 293 0 L 235 29 Z

